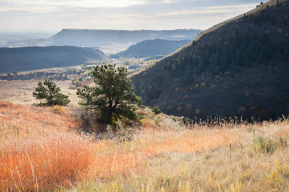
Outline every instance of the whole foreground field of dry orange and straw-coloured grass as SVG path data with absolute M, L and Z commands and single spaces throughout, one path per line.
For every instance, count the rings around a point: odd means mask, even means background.
M 286 118 L 184 126 L 144 109 L 124 131 L 85 133 L 74 107 L 13 102 L 0 102 L 0 191 L 289 189 Z

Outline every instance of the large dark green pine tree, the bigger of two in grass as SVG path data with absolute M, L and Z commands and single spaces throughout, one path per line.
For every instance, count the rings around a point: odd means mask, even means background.
M 124 67 L 115 69 L 114 65 L 94 66 L 92 75 L 97 86 L 83 86 L 77 89 L 77 95 L 83 101 L 79 104 L 87 106 L 99 117 L 99 120 L 113 125 L 118 118 L 136 120 L 134 105 L 142 107 L 142 99 L 136 96 L 130 84 L 129 73 Z

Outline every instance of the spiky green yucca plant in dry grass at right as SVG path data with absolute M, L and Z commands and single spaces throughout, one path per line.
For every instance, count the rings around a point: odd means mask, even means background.
M 274 143 L 272 142 L 272 140 L 269 137 L 264 136 L 264 134 L 257 135 L 253 139 L 253 145 L 256 151 L 261 150 L 264 152 L 269 152 L 273 151 L 274 148 Z

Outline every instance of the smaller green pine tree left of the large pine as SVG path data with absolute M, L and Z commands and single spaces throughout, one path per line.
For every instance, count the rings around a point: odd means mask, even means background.
M 36 99 L 46 100 L 46 102 L 36 104 L 37 106 L 66 106 L 70 100 L 67 95 L 60 93 L 60 91 L 60 88 L 56 87 L 55 83 L 45 79 L 43 84 L 41 81 L 38 82 L 38 87 L 35 88 L 35 91 L 32 94 Z

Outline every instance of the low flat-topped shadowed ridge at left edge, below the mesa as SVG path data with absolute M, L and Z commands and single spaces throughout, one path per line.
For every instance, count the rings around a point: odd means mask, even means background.
M 0 47 L 0 73 L 97 63 L 108 60 L 103 52 L 89 47 Z

